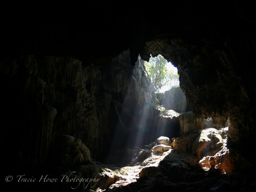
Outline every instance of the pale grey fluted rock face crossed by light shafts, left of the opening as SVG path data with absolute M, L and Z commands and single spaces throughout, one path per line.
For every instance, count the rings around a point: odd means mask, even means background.
M 101 156 L 109 149 L 114 152 L 125 145 L 128 148 L 152 142 L 151 130 L 159 113 L 156 95 L 140 56 L 135 66 L 127 65 L 130 62 L 128 50 L 113 58 L 108 68 L 99 68 L 102 80 L 95 94 L 99 129 L 108 130 L 102 138 L 105 144 Z

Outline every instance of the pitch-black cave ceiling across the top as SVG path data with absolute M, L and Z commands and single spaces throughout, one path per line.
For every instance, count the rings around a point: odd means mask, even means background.
M 6 54 L 30 53 L 71 56 L 98 65 L 106 65 L 128 48 L 133 65 L 145 42 L 154 39 L 182 38 L 185 43 L 198 44 L 213 35 L 251 36 L 248 29 L 255 20 L 252 6 L 241 1 L 173 1 L 168 6 L 161 2 L 122 6 L 110 2 L 22 3 L 10 7 L 2 12 L 6 43 L 2 59 Z

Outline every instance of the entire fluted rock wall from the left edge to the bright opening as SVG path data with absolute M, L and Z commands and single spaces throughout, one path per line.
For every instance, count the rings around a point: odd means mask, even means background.
M 159 111 L 140 57 L 136 63 L 129 65 L 129 50 L 101 71 L 70 57 L 27 55 L 1 62 L 4 101 L 10 105 L 3 129 L 19 143 L 7 149 L 17 151 L 13 161 L 41 166 L 50 143 L 63 134 L 80 139 L 93 158 L 147 142 L 139 134 L 150 135 Z

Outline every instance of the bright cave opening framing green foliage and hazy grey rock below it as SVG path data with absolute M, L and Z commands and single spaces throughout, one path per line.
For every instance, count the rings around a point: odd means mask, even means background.
M 161 54 L 155 57 L 150 54 L 149 61 L 144 61 L 144 66 L 149 74 L 153 90 L 157 95 L 160 109 L 175 110 L 178 113 L 193 111 L 192 106 L 187 102 L 186 96 L 180 88 L 177 67 Z

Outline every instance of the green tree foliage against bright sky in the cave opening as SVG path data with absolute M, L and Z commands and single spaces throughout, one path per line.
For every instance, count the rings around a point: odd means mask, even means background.
M 156 57 L 151 55 L 149 62 L 145 62 L 144 65 L 155 92 L 159 93 L 164 86 L 167 86 L 168 89 L 180 86 L 177 68 L 168 66 L 171 64 L 162 55 Z

